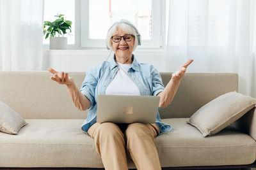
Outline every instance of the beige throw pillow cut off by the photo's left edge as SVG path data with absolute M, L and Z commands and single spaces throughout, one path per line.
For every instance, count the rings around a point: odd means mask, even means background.
M 26 122 L 19 113 L 0 101 L 0 131 L 17 134 L 24 125 L 26 125 Z

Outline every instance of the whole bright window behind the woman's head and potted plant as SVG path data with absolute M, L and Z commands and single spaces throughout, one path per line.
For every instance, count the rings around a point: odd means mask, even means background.
M 138 48 L 161 48 L 165 43 L 165 1 L 159 0 L 45 0 L 44 20 L 57 13 L 72 21 L 68 48 L 106 48 L 106 34 L 116 21 L 126 19 L 141 35 Z M 44 39 L 49 44 L 49 38 Z

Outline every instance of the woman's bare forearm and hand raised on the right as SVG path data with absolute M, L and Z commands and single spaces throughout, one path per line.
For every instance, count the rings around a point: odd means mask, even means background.
M 164 88 L 163 92 L 157 94 L 157 96 L 160 96 L 159 108 L 165 108 L 172 102 L 172 99 L 179 88 L 180 81 L 186 72 L 186 68 L 191 62 L 193 62 L 193 60 L 188 60 L 185 64 L 180 66 L 177 71 L 172 74 L 172 78 Z

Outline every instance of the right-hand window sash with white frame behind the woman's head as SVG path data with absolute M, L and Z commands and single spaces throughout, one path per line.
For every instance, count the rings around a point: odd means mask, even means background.
M 165 18 L 164 3 L 157 0 L 82 0 L 81 46 L 105 47 L 109 27 L 126 19 L 138 28 L 141 48 L 161 48 L 165 32 L 165 29 L 161 30 L 165 26 L 165 20 L 161 20 Z

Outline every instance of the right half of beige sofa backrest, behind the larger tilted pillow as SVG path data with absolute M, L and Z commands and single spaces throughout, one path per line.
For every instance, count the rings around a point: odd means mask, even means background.
M 161 73 L 164 86 L 171 73 Z M 236 73 L 186 73 L 172 103 L 159 110 L 161 118 L 188 118 L 221 94 L 238 91 Z

